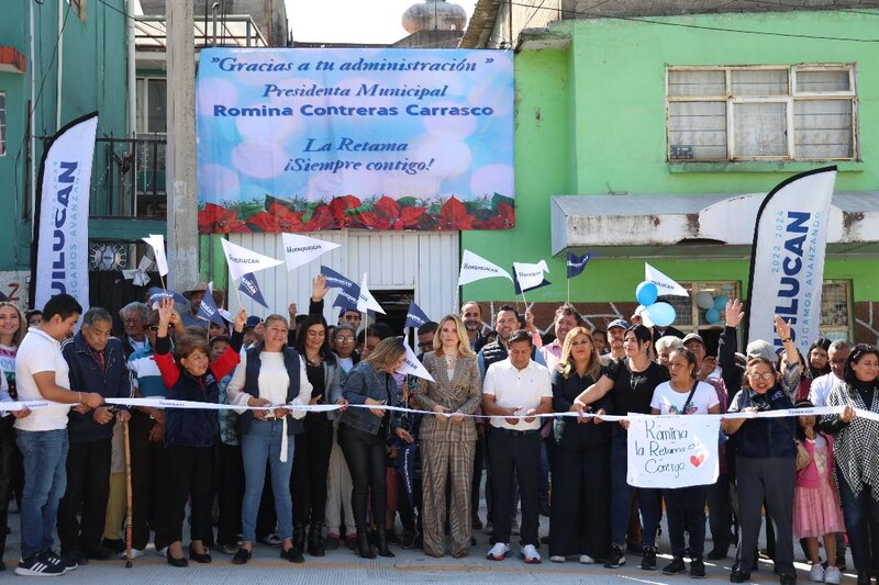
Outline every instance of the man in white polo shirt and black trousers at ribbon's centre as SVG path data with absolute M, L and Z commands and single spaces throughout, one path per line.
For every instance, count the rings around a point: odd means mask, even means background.
M 491 492 L 494 500 L 494 545 L 487 558 L 502 561 L 510 555 L 510 510 L 513 471 L 522 497 L 522 552 L 526 563 L 539 563 L 537 480 L 541 464 L 541 420 L 534 416 L 553 412 L 549 370 L 533 361 L 533 340 L 526 330 L 516 330 L 508 341 L 509 357 L 492 363 L 482 383 L 482 409 L 491 419 L 489 458 Z

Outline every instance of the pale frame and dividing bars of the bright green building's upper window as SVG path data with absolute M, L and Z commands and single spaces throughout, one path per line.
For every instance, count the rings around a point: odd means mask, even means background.
M 787 94 L 775 95 L 734 95 L 732 93 L 733 71 L 783 70 L 788 74 Z M 808 71 L 839 71 L 848 72 L 848 90 L 846 91 L 798 91 L 797 74 Z M 724 71 L 725 95 L 670 95 L 670 77 L 674 71 Z M 857 67 L 855 63 L 826 63 L 826 64 L 798 64 L 798 65 L 736 65 L 736 66 L 666 66 L 666 161 L 669 164 L 686 162 L 746 162 L 746 161 L 820 161 L 820 160 L 859 160 L 858 144 L 858 93 Z M 852 156 L 850 157 L 798 157 L 797 156 L 797 127 L 794 124 L 794 104 L 797 102 L 815 101 L 849 101 L 852 104 Z M 680 102 L 725 102 L 726 103 L 726 157 L 725 158 L 672 158 L 671 150 L 671 104 Z M 782 156 L 743 156 L 736 153 L 735 140 L 735 105 L 739 103 L 785 103 L 787 123 L 787 153 Z M 678 145 L 676 145 L 678 146 Z

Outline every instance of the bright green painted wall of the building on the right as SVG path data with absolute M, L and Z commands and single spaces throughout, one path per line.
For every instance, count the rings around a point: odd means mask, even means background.
M 702 14 L 650 19 L 669 24 L 875 38 L 876 16 L 842 11 Z M 550 258 L 549 196 L 609 193 L 755 193 L 822 164 L 723 164 L 680 168 L 666 161 L 667 65 L 856 63 L 860 161 L 839 165 L 837 191 L 879 190 L 879 59 L 875 43 L 791 38 L 626 21 L 567 21 L 563 49 L 516 55 L 516 227 L 465 232 L 461 246 L 508 268 L 546 259 L 554 284 L 528 301 L 567 294 L 565 261 Z M 687 172 L 681 172 L 687 170 Z M 750 228 L 747 228 L 750 229 Z M 677 280 L 738 280 L 745 260 L 650 261 Z M 597 259 L 571 281 L 575 302 L 633 301 L 644 260 Z M 855 301 L 879 300 L 879 263 L 833 258 L 825 279 L 852 280 Z M 465 286 L 463 299 L 513 300 L 509 281 Z

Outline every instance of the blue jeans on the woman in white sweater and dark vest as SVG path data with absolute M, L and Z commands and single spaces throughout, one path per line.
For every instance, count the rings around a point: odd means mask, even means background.
M 241 437 L 244 462 L 244 499 L 241 524 L 244 542 L 256 540 L 256 514 L 266 481 L 266 461 L 271 471 L 271 491 L 278 517 L 278 536 L 293 538 L 293 503 L 290 497 L 290 471 L 293 469 L 293 436 L 288 437 L 287 461 L 280 460 L 283 426 L 281 420 L 257 420 Z

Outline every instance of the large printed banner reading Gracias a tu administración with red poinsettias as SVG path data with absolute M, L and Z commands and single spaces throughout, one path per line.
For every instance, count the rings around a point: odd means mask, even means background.
M 196 103 L 201 234 L 514 225 L 511 52 L 211 48 Z

